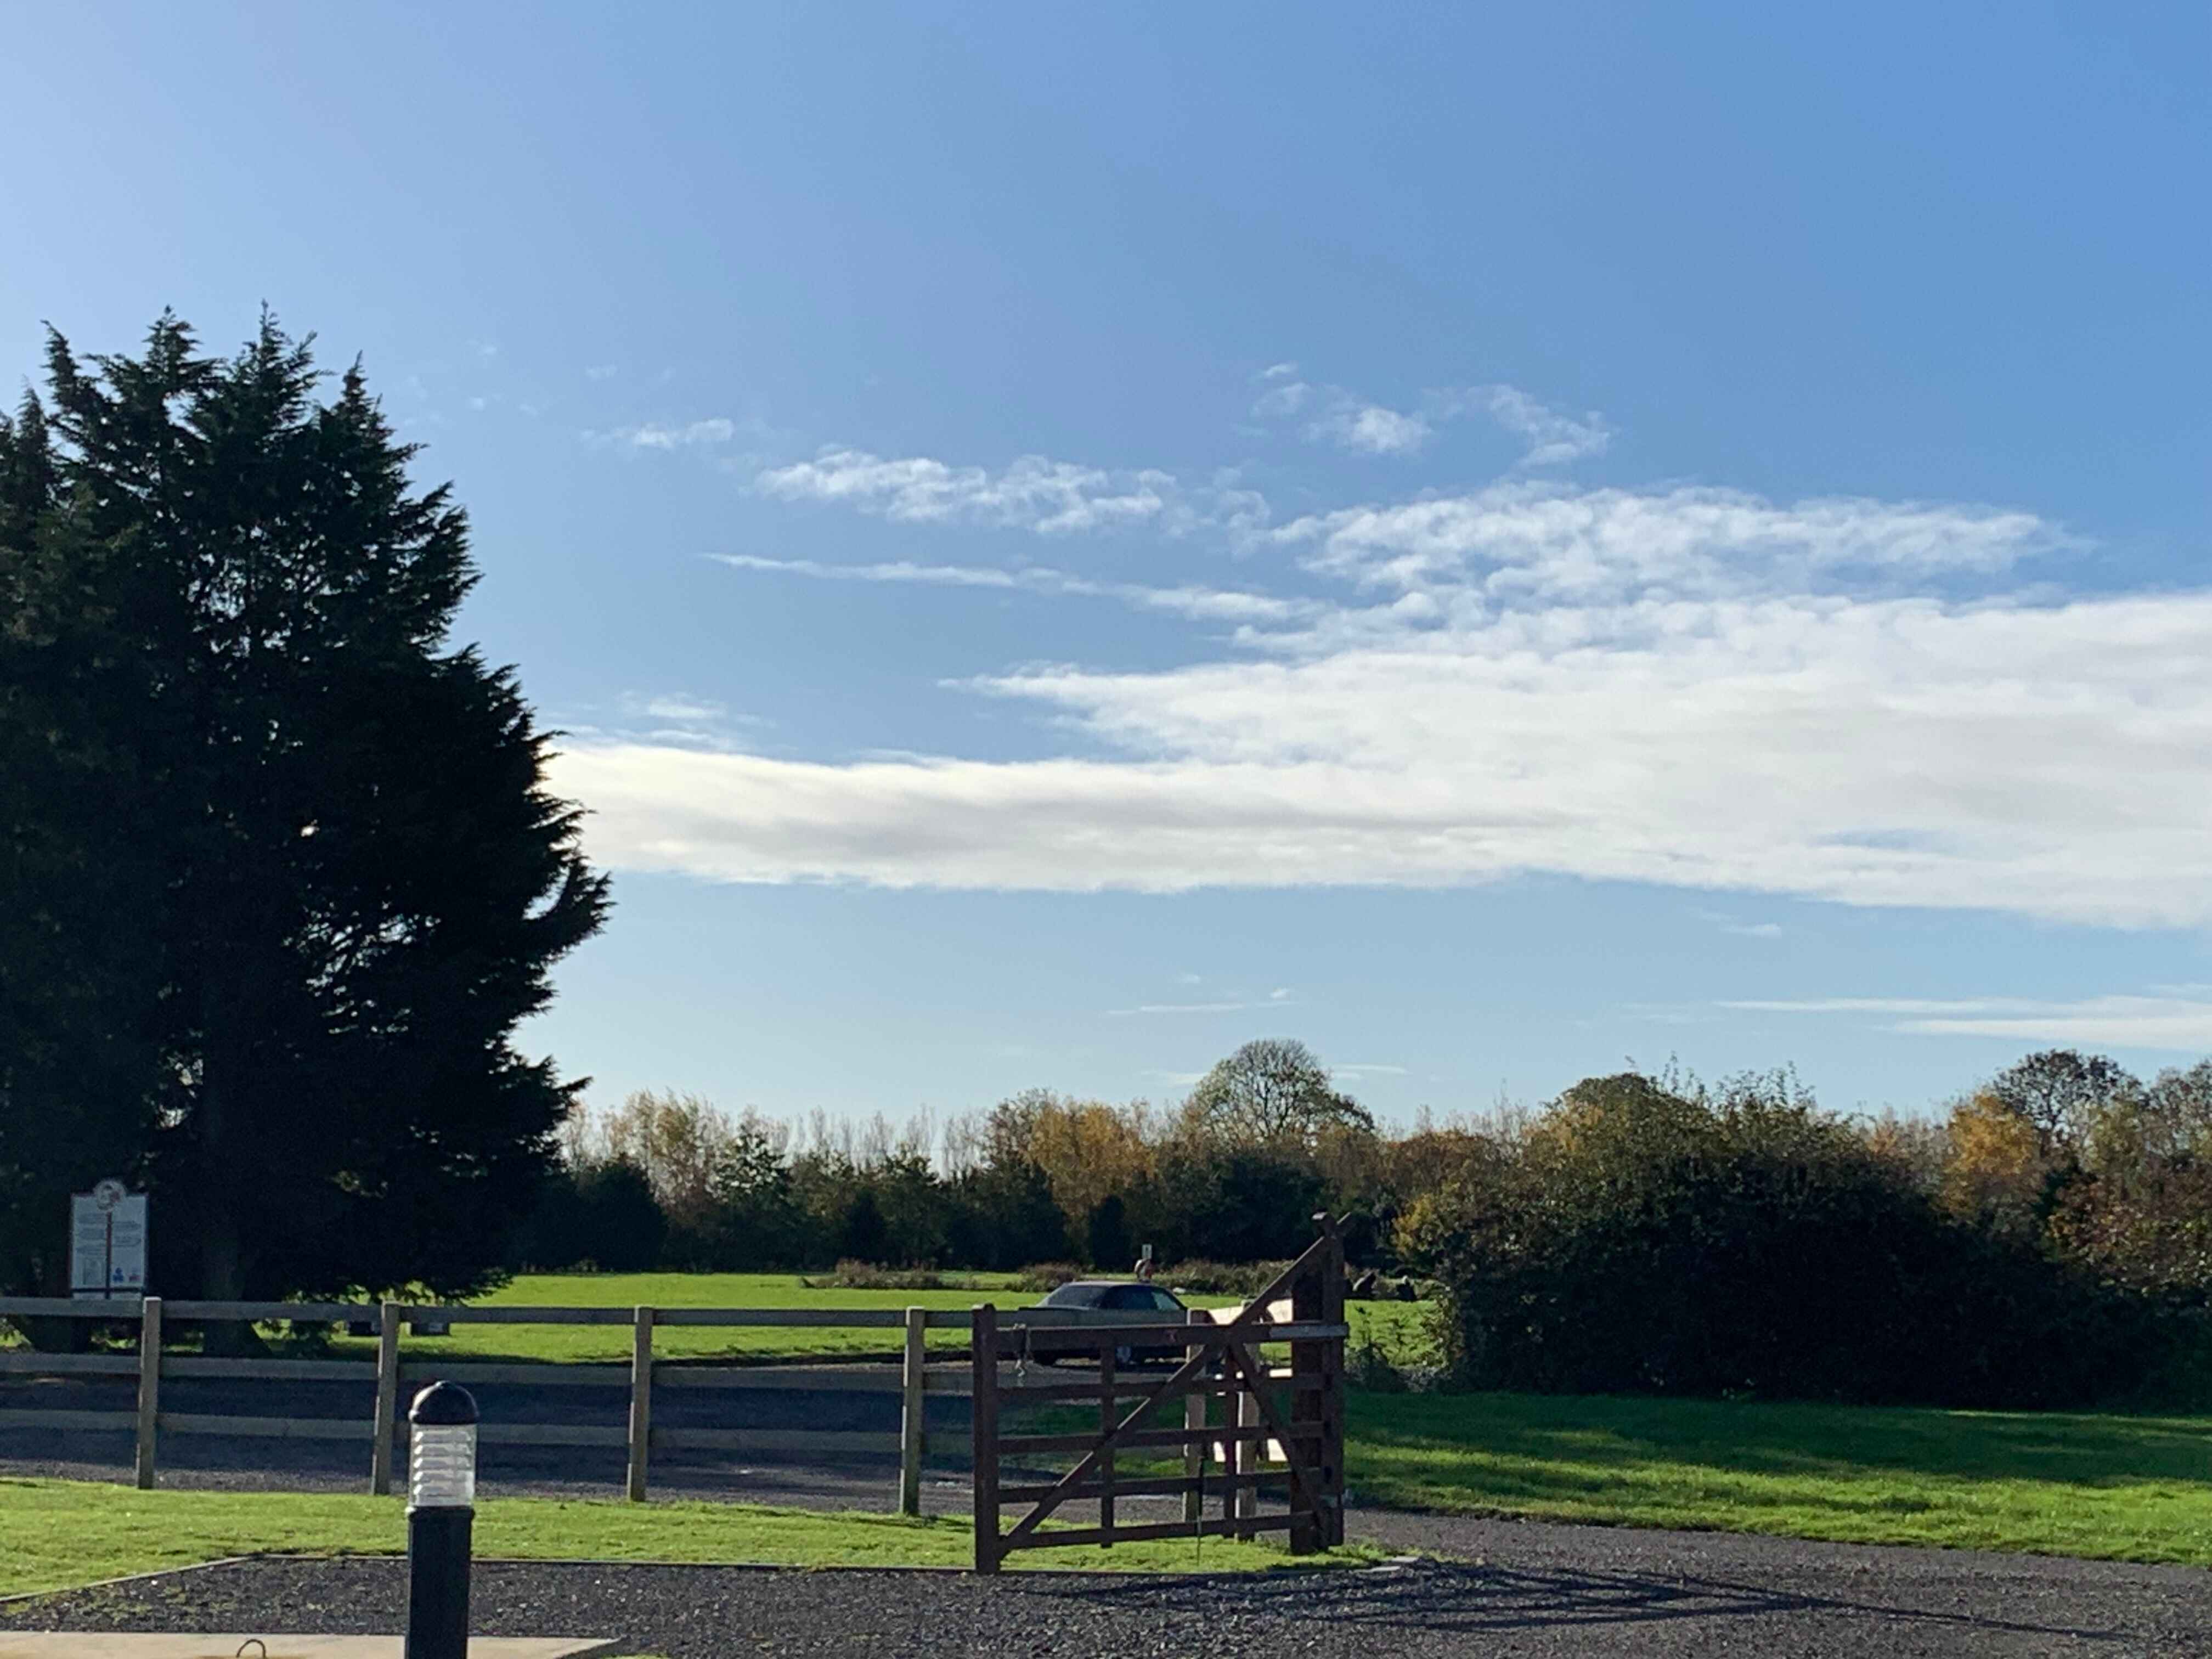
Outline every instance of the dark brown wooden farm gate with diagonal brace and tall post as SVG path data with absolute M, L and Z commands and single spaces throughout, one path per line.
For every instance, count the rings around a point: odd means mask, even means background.
M 1314 1217 L 1321 1237 L 1237 1314 L 1192 1310 L 1179 1325 L 1000 1323 L 978 1307 L 971 1325 L 975 1571 L 995 1573 L 1013 1551 L 1150 1537 L 1254 1537 L 1287 1528 L 1292 1553 L 1345 1540 L 1345 1245 L 1338 1225 Z M 1217 1323 L 1225 1321 L 1225 1323 Z M 1290 1367 L 1261 1354 L 1287 1343 Z M 1177 1360 L 1179 1356 L 1179 1360 Z M 1097 1365 L 1097 1376 L 1029 1380 L 1042 1358 Z M 1161 1378 L 1144 1363 L 1172 1365 Z M 1006 1376 L 1006 1369 L 1013 1376 Z M 1181 1427 L 1161 1427 L 1181 1400 Z M 1097 1407 L 1097 1429 L 1002 1433 L 1009 1409 L 1064 1402 Z M 1181 1453 L 1179 1475 L 1117 1471 L 1121 1453 Z M 1075 1455 L 1053 1480 L 1026 1475 L 1037 1458 Z M 1181 1498 L 1172 1522 L 1128 1524 L 1121 1498 Z M 1208 1515 L 1208 1500 L 1217 1513 Z M 1062 1504 L 1095 1502 L 1095 1526 L 1044 1528 Z M 1026 1504 L 1000 1531 L 1006 1506 Z M 1276 1504 L 1281 1504 L 1276 1509 Z

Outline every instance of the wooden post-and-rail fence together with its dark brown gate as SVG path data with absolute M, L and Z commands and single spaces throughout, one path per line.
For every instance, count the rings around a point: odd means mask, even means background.
M 9 1429 L 106 1431 L 133 1438 L 133 1482 L 153 1489 L 159 1473 L 159 1449 L 170 1436 L 281 1438 L 281 1440 L 367 1440 L 367 1486 L 372 1493 L 394 1489 L 396 1444 L 405 1422 L 405 1398 L 427 1383 L 520 1385 L 520 1387 L 626 1387 L 626 1425 L 599 1422 L 515 1422 L 491 1418 L 478 1438 L 487 1447 L 622 1447 L 624 1493 L 644 1502 L 650 1491 L 655 1451 L 732 1451 L 732 1453 L 818 1453 L 856 1455 L 885 1453 L 898 1458 L 898 1480 L 891 1493 L 896 1513 L 918 1515 L 922 1498 L 922 1464 L 931 1455 L 971 1453 L 975 1469 L 975 1566 L 995 1571 L 1015 1548 L 1048 1544 L 1164 1537 L 1164 1535 L 1239 1535 L 1252 1537 L 1267 1526 L 1287 1526 L 1294 1551 L 1318 1548 L 1340 1540 L 1343 1517 L 1343 1248 L 1334 1225 L 1263 1296 L 1245 1310 L 1223 1314 L 1214 1323 L 1206 1312 L 1190 1312 L 1190 1323 L 1161 1325 L 1157 1312 L 1099 1312 L 1022 1307 L 975 1310 L 933 1307 L 462 1307 L 409 1303 L 208 1303 L 142 1298 L 60 1298 L 0 1296 L 0 1318 L 77 1318 L 102 1325 L 137 1325 L 137 1352 L 44 1354 L 0 1349 L 0 1380 L 11 1378 L 135 1378 L 135 1407 L 124 1409 L 53 1409 L 0 1407 L 0 1433 Z M 376 1332 L 376 1360 L 341 1358 L 215 1358 L 173 1354 L 164 1349 L 164 1332 L 177 1325 L 270 1323 L 290 1321 L 316 1325 L 369 1327 Z M 606 1363 L 502 1363 L 409 1356 L 403 1352 L 403 1329 L 416 1323 L 440 1325 L 628 1325 L 630 1358 Z M 814 1329 L 883 1329 L 896 1332 L 898 1365 L 867 1367 L 865 1360 L 821 1365 L 728 1365 L 666 1360 L 655 1354 L 655 1332 L 668 1327 L 814 1327 Z M 953 1360 L 929 1365 L 929 1332 L 969 1332 L 967 1363 L 958 1352 L 940 1354 Z M 1261 1363 L 1261 1343 L 1287 1343 L 1290 1369 Z M 1130 1365 L 1157 1354 L 1179 1356 L 1175 1369 L 1155 1380 Z M 1029 1360 L 1091 1358 L 1097 1378 L 1031 1380 Z M 1011 1380 L 1009 1380 L 1011 1371 Z M 1042 1374 L 1037 1374 L 1042 1378 Z M 161 1385 L 173 1380 L 232 1383 L 356 1383 L 369 1385 L 367 1416 L 232 1416 L 181 1413 L 164 1409 Z M 898 1429 L 710 1429 L 655 1425 L 653 1402 L 661 1389 L 781 1389 L 781 1391 L 860 1391 L 896 1394 Z M 969 1431 L 931 1429 L 925 1405 L 931 1396 L 973 1396 Z M 1287 1416 L 1274 1396 L 1287 1398 Z M 1179 1429 L 1135 1427 L 1161 1402 L 1181 1400 Z M 1210 1405 L 1221 1400 L 1221 1422 L 1210 1420 Z M 1009 1405 L 1033 1407 L 1082 1402 L 1097 1407 L 1097 1427 L 1079 1433 L 1002 1436 L 1000 1420 Z M 1124 1402 L 1135 1402 L 1119 1413 Z M 1177 1478 L 1124 1478 L 1117 1451 L 1146 1453 L 1172 1447 L 1183 1455 Z M 1055 1453 L 1077 1455 L 1071 1475 L 1037 1484 L 1018 1480 L 1002 1484 L 1002 1460 L 1035 1460 Z M 1281 1469 L 1263 1467 L 1267 1458 L 1287 1458 Z M 1210 1462 L 1221 1464 L 1210 1475 Z M 1022 1471 L 1015 1469 L 1015 1475 Z M 1261 1491 L 1287 1482 L 1290 1509 L 1265 1515 Z M 1183 1495 L 1179 1524 L 1119 1524 L 1115 1498 Z M 1208 1520 L 1203 1495 L 1221 1495 L 1223 1513 Z M 1044 1515 L 1066 1500 L 1095 1500 L 1099 1524 L 1091 1528 L 1042 1528 Z M 1000 1535 L 998 1517 L 1004 1504 L 1029 1502 L 1035 1511 L 1011 1533 Z M 984 1515 L 989 1513 L 989 1526 Z

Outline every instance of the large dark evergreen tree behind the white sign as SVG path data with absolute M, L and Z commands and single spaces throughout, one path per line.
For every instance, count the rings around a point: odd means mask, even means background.
M 513 1029 L 608 898 L 449 644 L 467 520 L 272 319 L 46 383 L 0 422 L 0 1281 L 131 1172 L 170 1292 L 476 1287 L 575 1091 Z

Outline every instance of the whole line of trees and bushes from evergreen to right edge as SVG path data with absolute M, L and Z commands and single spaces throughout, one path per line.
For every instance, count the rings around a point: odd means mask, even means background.
M 1951 1405 L 2212 1400 L 2212 1062 L 2028 1055 L 1933 1117 L 1790 1073 L 1593 1077 L 1405 1135 L 1294 1042 L 1170 1108 L 1031 1091 L 805 1133 L 686 1095 L 573 1126 L 518 1265 L 1013 1270 L 1296 1254 L 1438 1281 L 1469 1387 Z

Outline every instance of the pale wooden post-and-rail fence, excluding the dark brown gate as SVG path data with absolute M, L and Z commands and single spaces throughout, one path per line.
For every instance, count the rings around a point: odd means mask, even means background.
M 898 1458 L 898 1484 L 894 1506 L 902 1515 L 920 1513 L 922 1462 L 929 1455 L 964 1453 L 971 1433 L 929 1429 L 922 1420 L 927 1396 L 967 1396 L 973 1391 L 969 1365 L 927 1365 L 927 1334 L 933 1329 L 973 1329 L 978 1318 L 995 1321 L 1000 1332 L 1029 1332 L 1029 1345 L 1037 1352 L 1064 1352 L 1082 1343 L 1086 1327 L 1113 1327 L 1119 1336 L 1150 1336 L 1161 1329 L 1159 1314 L 1148 1312 L 1102 1312 L 1064 1307 L 1024 1307 L 998 1314 L 995 1310 L 938 1310 L 938 1307 L 458 1307 L 458 1305 L 414 1305 L 414 1303 L 210 1303 L 210 1301 L 164 1301 L 161 1296 L 139 1298 L 84 1298 L 62 1296 L 0 1296 L 0 1318 L 80 1318 L 97 1323 L 139 1325 L 135 1354 L 40 1354 L 27 1349 L 0 1349 L 0 1378 L 7 1376 L 113 1376 L 137 1378 L 135 1409 L 77 1411 L 49 1407 L 0 1407 L 0 1431 L 4 1429 L 71 1429 L 108 1431 L 133 1436 L 133 1482 L 150 1489 L 157 1480 L 157 1451 L 164 1436 L 237 1436 L 257 1440 L 367 1440 L 369 1442 L 369 1491 L 385 1495 L 394 1489 L 396 1444 L 403 1429 L 403 1396 L 420 1383 L 451 1380 L 462 1385 L 518 1385 L 518 1387 L 622 1387 L 628 1389 L 626 1425 L 575 1425 L 575 1422 L 484 1422 L 480 1440 L 484 1444 L 520 1447 L 622 1447 L 624 1449 L 624 1493 L 641 1502 L 650 1489 L 650 1467 L 655 1451 L 814 1451 L 821 1455 L 885 1453 Z M 208 1358 L 195 1354 L 164 1354 L 161 1334 L 175 1329 L 179 1321 L 190 1323 L 314 1323 L 349 1325 L 376 1332 L 376 1358 L 369 1360 L 290 1360 L 290 1358 Z M 500 1363 L 500 1360 L 427 1360 L 407 1356 L 400 1336 L 416 1323 L 440 1321 L 449 1325 L 628 1325 L 628 1363 Z M 754 1367 L 754 1365 L 695 1365 L 670 1363 L 655 1354 L 653 1334 L 661 1327 L 801 1327 L 801 1329 L 883 1329 L 900 1332 L 902 1352 L 898 1367 L 880 1374 L 823 1369 L 814 1376 L 794 1376 L 814 1367 Z M 1183 1327 L 1172 1327 L 1177 1340 Z M 1290 1327 L 1283 1327 L 1285 1340 Z M 1097 1338 L 1091 1336 L 1091 1347 Z M 940 1356 L 949 1358 L 949 1356 Z M 964 1356 L 962 1356 L 964 1358 Z M 1009 1358 L 1009 1374 L 1026 1374 L 1020 1356 Z M 365 1418 L 268 1418 L 268 1416 L 215 1416 L 179 1413 L 161 1409 L 164 1380 L 276 1380 L 276 1383 L 361 1383 L 372 1387 L 372 1409 Z M 1281 1374 L 1287 1387 L 1301 1387 Z M 1055 1400 L 1110 1400 L 1137 1398 L 1150 1383 L 1139 1378 L 1110 1378 L 1110 1394 L 1102 1396 L 1097 1383 L 1033 1383 L 1006 1391 L 1020 1398 Z M 653 1398 L 659 1389 L 803 1389 L 823 1394 L 896 1394 L 900 1398 L 898 1429 L 843 1431 L 843 1429 L 697 1429 L 655 1427 Z M 1194 1387 L 1219 1391 L 1219 1385 Z

